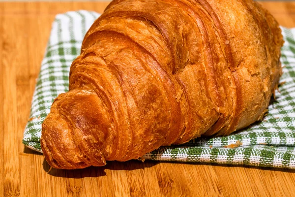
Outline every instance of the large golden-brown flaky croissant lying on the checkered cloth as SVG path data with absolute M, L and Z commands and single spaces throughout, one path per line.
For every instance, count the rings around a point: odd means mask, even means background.
M 55 168 L 138 159 L 261 120 L 283 38 L 252 0 L 113 0 L 42 125 Z

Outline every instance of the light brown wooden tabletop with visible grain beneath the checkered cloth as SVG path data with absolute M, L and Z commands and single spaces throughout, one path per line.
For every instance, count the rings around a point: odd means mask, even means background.
M 130 161 L 53 169 L 24 148 L 23 131 L 51 23 L 58 13 L 102 12 L 107 2 L 0 3 L 0 196 L 294 196 L 295 171 Z M 295 27 L 295 2 L 263 2 Z

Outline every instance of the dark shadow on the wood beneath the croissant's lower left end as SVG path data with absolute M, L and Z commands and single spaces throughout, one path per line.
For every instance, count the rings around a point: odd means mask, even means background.
M 50 165 L 44 159 L 43 161 L 43 169 L 48 172 L 52 176 L 57 177 L 67 177 L 67 178 L 84 178 L 84 177 L 99 177 L 105 176 L 105 169 L 110 170 L 135 170 L 135 169 L 145 169 L 148 167 L 152 167 L 156 164 L 159 164 L 158 161 L 138 161 L 138 160 L 130 160 L 126 162 L 118 162 L 118 161 L 107 161 L 107 165 L 101 167 L 90 166 L 83 169 L 50 169 Z

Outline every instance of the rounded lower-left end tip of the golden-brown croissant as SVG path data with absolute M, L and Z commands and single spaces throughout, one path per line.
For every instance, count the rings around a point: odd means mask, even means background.
M 85 106 L 85 103 L 92 104 Z M 95 103 L 98 103 L 97 95 L 85 90 L 69 91 L 55 99 L 42 124 L 40 138 L 41 149 L 50 166 L 77 169 L 106 165 L 103 140 L 107 127 L 102 124 L 99 128 L 89 126 L 93 125 L 90 110 L 95 111 L 95 117 L 103 122 L 104 117 L 98 113 L 100 105 Z M 75 139 L 79 140 L 74 142 Z

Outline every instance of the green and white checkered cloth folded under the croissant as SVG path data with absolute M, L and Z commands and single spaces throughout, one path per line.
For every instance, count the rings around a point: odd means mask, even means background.
M 56 16 L 24 133 L 23 143 L 29 148 L 42 152 L 41 124 L 53 100 L 68 91 L 70 65 L 98 17 L 98 13 L 85 10 Z M 277 92 L 277 100 L 269 105 L 264 121 L 226 137 L 197 138 L 180 146 L 161 147 L 143 159 L 295 168 L 295 29 L 282 31 L 285 44 L 281 61 L 285 67 L 281 81 L 286 83 L 280 87 L 281 93 Z M 229 148 L 233 144 L 239 146 Z

